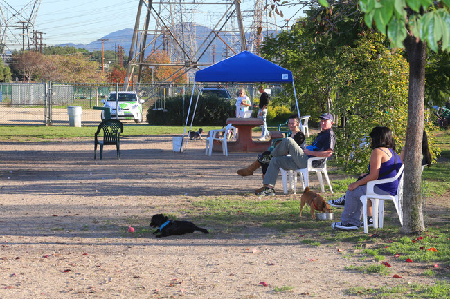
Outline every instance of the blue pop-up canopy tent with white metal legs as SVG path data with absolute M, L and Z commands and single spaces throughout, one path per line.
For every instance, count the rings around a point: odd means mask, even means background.
M 198 70 L 195 73 L 194 86 L 192 86 L 192 93 L 190 97 L 190 104 L 188 108 L 188 116 L 186 117 L 186 125 L 183 132 L 183 140 L 186 135 L 186 128 L 188 126 L 188 120 L 190 115 L 190 108 L 192 106 L 192 97 L 194 96 L 196 82 L 217 82 L 217 83 L 292 83 L 294 88 L 294 96 L 296 98 L 296 106 L 298 117 L 300 117 L 300 110 L 298 109 L 298 101 L 296 95 L 296 88 L 294 86 L 294 79 L 292 78 L 292 72 L 281 66 L 273 64 L 262 57 L 252 54 L 248 51 L 240 52 L 232 57 L 228 57 L 222 61 L 208 66 L 203 70 Z M 200 95 L 200 93 L 199 93 Z M 199 102 L 199 95 L 197 96 L 197 102 L 195 103 L 194 113 L 192 113 L 192 120 L 190 123 L 189 131 L 192 128 L 192 122 L 194 120 L 195 110 Z M 186 141 L 186 146 L 188 142 Z M 181 148 L 183 142 L 181 142 Z

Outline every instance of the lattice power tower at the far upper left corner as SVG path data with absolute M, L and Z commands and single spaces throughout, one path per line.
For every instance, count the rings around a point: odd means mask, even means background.
M 10 0 L 10 3 L 14 3 L 14 0 Z M 30 49 L 41 0 L 29 1 L 21 8 L 10 3 L 0 0 L 0 54 L 2 57 L 12 50 Z

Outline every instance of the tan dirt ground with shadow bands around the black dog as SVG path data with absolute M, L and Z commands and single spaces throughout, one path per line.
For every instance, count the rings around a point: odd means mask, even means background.
M 348 271 L 379 262 L 346 258 L 350 244 L 313 247 L 260 226 L 136 238 L 129 224 L 147 226 L 200 196 L 250 192 L 261 177 L 235 173 L 255 153 L 208 157 L 201 141 L 184 153 L 172 151 L 172 136 L 120 146 L 121 160 L 105 146 L 100 161 L 93 140 L 0 142 L 0 298 L 361 298 L 345 290 L 434 282 L 422 275 L 429 265 L 398 259 L 388 262 L 401 280 Z M 276 191 L 294 196 L 280 182 Z

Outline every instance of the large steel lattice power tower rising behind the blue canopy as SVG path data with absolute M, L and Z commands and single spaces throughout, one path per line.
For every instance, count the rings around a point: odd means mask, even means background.
M 258 54 L 262 41 L 258 28 L 267 28 L 262 25 L 266 1 L 249 1 L 251 9 L 242 10 L 240 0 L 140 0 L 125 88 L 141 81 L 145 67 L 176 67 L 163 80 L 173 82 L 184 74 L 192 79 L 199 67 L 242 50 Z M 170 63 L 145 61 L 157 51 L 165 52 Z

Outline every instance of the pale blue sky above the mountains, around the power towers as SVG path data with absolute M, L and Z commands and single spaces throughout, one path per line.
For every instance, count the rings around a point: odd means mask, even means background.
M 201 1 L 222 2 L 224 0 Z M 251 10 L 255 6 L 254 1 L 242 0 L 243 16 L 251 15 Z M 17 12 L 25 17 L 30 15 L 36 2 L 39 3 L 39 0 L 0 0 L 0 7 L 7 19 Z M 134 28 L 138 3 L 139 0 L 41 0 L 35 18 L 35 30 L 43 32 L 43 43 L 46 45 L 89 44 L 111 32 Z M 215 19 L 222 17 L 223 12 L 221 10 L 224 9 L 223 7 L 213 5 L 192 6 L 188 9 L 188 12 L 191 13 L 188 14 L 189 16 L 185 15 L 184 20 L 208 25 L 208 22 L 212 23 Z M 284 19 L 295 15 L 297 10 L 297 7 L 283 9 Z M 141 20 L 144 17 L 145 12 L 141 15 Z M 279 19 L 279 23 L 281 23 L 282 20 Z M 12 25 L 20 26 L 17 22 L 12 23 Z M 12 29 L 10 35 L 19 37 L 21 29 Z

